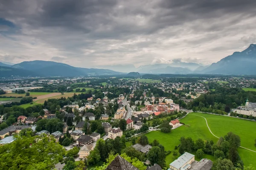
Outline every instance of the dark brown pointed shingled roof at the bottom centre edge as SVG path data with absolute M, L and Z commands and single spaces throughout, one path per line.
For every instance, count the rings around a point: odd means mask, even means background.
M 130 162 L 123 159 L 121 156 L 116 156 L 116 158 L 108 165 L 105 170 L 139 170 L 134 167 Z

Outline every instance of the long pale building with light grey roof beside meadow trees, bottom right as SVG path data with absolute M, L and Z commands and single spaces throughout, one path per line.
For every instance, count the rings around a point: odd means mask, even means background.
M 170 168 L 168 170 L 188 170 L 194 161 L 195 155 L 185 152 L 178 157 L 178 159 L 169 164 Z

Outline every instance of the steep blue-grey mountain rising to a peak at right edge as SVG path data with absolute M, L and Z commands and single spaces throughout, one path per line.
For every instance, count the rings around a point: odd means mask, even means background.
M 246 50 L 234 52 L 203 71 L 205 74 L 256 74 L 256 45 L 251 44 Z

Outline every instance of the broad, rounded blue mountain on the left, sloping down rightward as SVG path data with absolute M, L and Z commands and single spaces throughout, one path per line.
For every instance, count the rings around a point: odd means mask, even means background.
M 67 65 L 59 62 L 41 61 L 41 60 L 21 62 L 15 65 L 12 65 L 11 68 L 30 71 L 34 73 L 33 75 L 44 76 L 44 77 L 55 77 L 55 76 L 71 77 L 71 76 L 121 74 L 119 72 L 107 70 L 107 69 L 76 68 L 71 65 Z M 6 77 L 5 75 L 6 72 L 1 71 L 0 73 L 1 73 L 1 76 L 3 73 L 3 77 Z

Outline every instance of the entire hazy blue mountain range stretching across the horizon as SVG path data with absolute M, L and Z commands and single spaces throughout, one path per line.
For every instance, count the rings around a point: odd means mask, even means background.
M 234 52 L 209 66 L 193 62 L 181 62 L 175 60 L 171 63 L 157 63 L 142 65 L 135 68 L 134 65 L 112 65 L 110 69 L 78 68 L 60 62 L 52 61 L 24 61 L 12 65 L 12 63 L 0 62 L 0 77 L 75 77 L 75 76 L 99 76 L 120 75 L 127 72 L 140 74 L 236 74 L 256 75 L 256 45 L 251 44 L 241 52 Z M 123 68 L 123 69 L 122 69 Z

